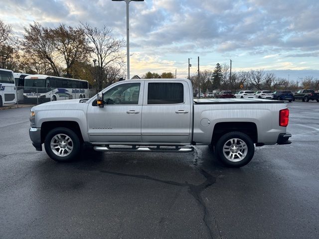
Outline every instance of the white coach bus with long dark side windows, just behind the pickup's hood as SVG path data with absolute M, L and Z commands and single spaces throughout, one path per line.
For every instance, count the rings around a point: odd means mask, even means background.
M 24 78 L 23 98 L 47 101 L 83 99 L 89 96 L 89 83 L 83 80 L 47 75 Z

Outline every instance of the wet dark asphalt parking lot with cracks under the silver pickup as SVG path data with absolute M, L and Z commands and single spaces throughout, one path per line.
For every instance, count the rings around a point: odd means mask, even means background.
M 57 163 L 0 111 L 0 238 L 319 238 L 319 103 L 289 103 L 290 145 L 240 169 L 192 153 L 86 153 Z

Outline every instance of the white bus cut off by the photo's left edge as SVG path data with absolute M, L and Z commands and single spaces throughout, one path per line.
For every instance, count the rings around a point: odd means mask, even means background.
M 0 107 L 16 104 L 13 71 L 0 69 Z

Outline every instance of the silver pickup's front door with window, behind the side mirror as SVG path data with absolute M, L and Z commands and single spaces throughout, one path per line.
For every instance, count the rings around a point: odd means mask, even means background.
M 89 106 L 88 132 L 91 142 L 141 142 L 143 84 L 130 81 L 104 92 L 104 108 Z

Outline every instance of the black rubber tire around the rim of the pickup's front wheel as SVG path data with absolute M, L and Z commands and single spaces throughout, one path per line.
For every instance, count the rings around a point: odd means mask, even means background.
M 71 139 L 73 149 L 66 156 L 58 156 L 51 149 L 51 140 L 55 140 L 54 137 L 58 134 L 66 135 Z M 64 141 L 65 143 L 65 141 Z M 57 145 L 58 146 L 58 145 Z M 81 151 L 81 141 L 78 135 L 71 129 L 65 127 L 58 127 L 50 130 L 44 139 L 44 148 L 46 153 L 55 161 L 58 162 L 69 162 L 75 160 Z M 57 150 L 62 150 L 64 152 L 65 149 L 58 148 Z

